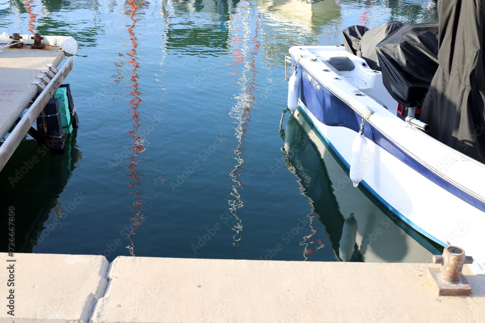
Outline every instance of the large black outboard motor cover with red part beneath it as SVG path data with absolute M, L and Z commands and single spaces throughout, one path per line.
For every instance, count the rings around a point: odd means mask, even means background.
M 406 107 L 416 107 L 428 92 L 438 68 L 437 34 L 437 21 L 408 25 L 393 32 L 375 48 L 384 86 Z

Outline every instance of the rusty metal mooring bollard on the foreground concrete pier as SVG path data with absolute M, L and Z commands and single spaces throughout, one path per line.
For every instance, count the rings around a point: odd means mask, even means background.
M 428 278 L 439 296 L 468 296 L 471 287 L 461 273 L 464 263 L 472 263 L 473 258 L 465 256 L 465 250 L 457 246 L 446 246 L 441 256 L 433 256 L 434 263 L 441 268 L 429 268 Z

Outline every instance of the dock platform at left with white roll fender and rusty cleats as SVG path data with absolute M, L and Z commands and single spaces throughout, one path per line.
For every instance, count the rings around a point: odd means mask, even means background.
M 0 138 L 10 132 L 0 146 L 0 170 L 25 135 L 36 133 L 32 124 L 71 71 L 73 58 L 59 65 L 77 51 L 72 37 L 14 35 L 0 34 Z

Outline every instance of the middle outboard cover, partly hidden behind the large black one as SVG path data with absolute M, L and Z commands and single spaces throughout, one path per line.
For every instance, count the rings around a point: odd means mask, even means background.
M 403 26 L 404 24 L 400 21 L 388 21 L 364 33 L 360 40 L 360 51 L 362 58 L 369 64 L 370 68 L 377 71 L 381 70 L 375 46 Z

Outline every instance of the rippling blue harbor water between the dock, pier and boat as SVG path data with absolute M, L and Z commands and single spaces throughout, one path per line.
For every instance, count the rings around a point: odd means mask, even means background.
M 435 20 L 435 6 L 0 0 L 0 32 L 78 41 L 65 83 L 81 122 L 65 154 L 26 138 L 0 173 L 0 251 L 13 207 L 16 252 L 430 261 L 290 118 L 284 55 L 355 24 Z

